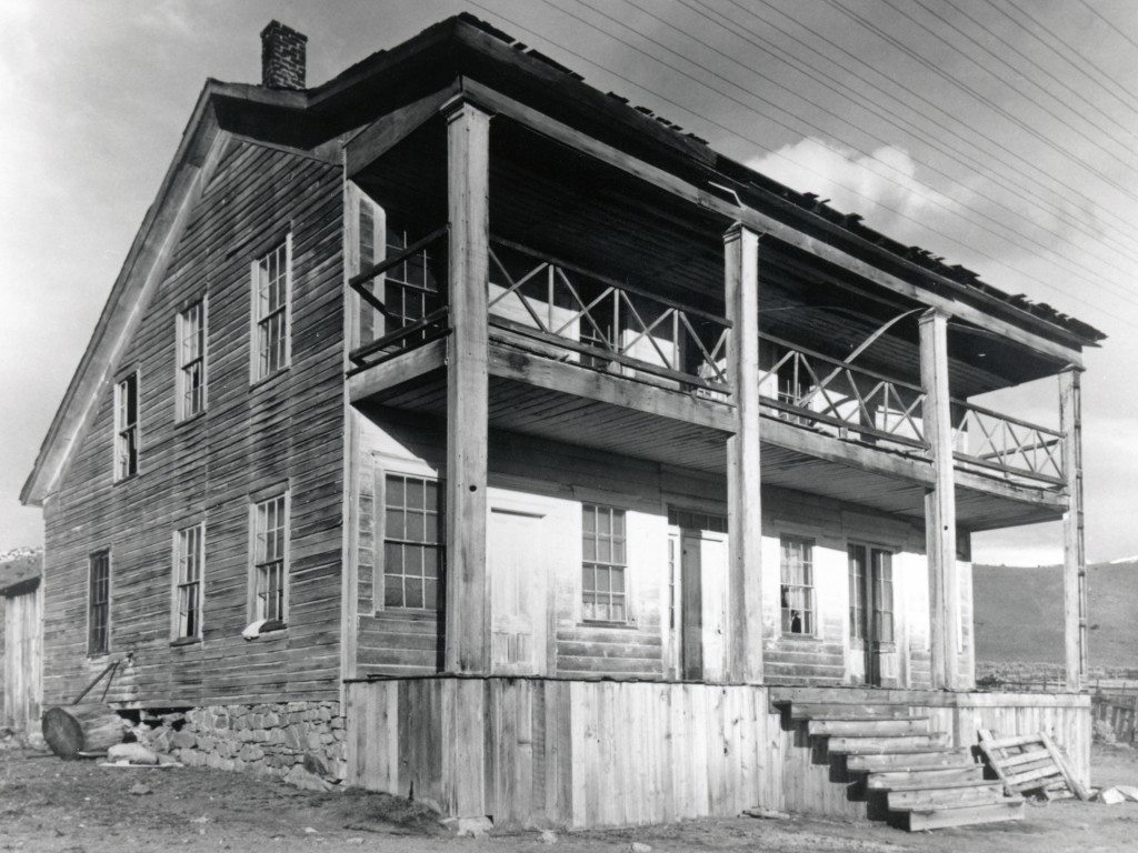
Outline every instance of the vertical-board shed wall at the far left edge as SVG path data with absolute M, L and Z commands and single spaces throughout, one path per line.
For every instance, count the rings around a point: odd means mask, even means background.
M 0 726 L 38 731 L 43 706 L 43 587 L 0 596 Z

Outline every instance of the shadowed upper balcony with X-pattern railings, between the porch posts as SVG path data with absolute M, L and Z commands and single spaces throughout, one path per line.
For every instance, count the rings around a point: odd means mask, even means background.
M 494 122 L 489 425 L 724 472 L 739 425 L 729 222 Z M 442 131 L 424 124 L 353 175 L 348 381 L 360 406 L 446 409 L 454 317 Z M 764 482 L 923 517 L 935 485 L 918 331 L 927 304 L 780 240 L 764 238 L 759 256 L 751 334 Z M 1064 430 L 972 398 L 1057 375 L 1062 361 L 966 317 L 953 318 L 947 347 L 958 522 L 982 530 L 1059 517 Z

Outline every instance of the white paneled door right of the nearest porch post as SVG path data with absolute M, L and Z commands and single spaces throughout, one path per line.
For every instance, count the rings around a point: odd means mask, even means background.
M 545 673 L 545 519 L 543 513 L 490 507 L 490 655 L 496 673 Z

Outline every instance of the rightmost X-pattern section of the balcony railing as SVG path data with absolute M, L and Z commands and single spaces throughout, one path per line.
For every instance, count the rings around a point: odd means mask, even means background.
M 953 404 L 958 458 L 1005 473 L 1065 482 L 1062 432 L 971 403 Z

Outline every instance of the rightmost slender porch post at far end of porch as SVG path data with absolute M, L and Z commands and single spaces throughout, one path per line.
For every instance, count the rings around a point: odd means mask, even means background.
M 1072 693 L 1087 679 L 1087 552 L 1082 510 L 1082 370 L 1059 373 L 1059 429 L 1067 511 L 1063 514 L 1063 628 L 1066 687 Z

